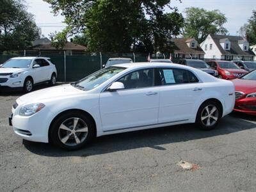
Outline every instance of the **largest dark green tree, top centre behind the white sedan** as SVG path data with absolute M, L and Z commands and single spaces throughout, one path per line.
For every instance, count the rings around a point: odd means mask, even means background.
M 183 17 L 165 13 L 171 0 L 44 0 L 61 12 L 71 33 L 83 33 L 90 51 L 164 50 L 179 35 Z M 146 17 L 147 14 L 147 17 Z

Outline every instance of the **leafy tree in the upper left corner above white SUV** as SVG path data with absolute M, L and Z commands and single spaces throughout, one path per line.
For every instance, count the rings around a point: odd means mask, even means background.
M 0 4 L 0 52 L 31 46 L 40 29 L 22 0 L 0 0 Z

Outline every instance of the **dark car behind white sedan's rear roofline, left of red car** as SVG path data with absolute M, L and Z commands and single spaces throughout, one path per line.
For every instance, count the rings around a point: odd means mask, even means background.
M 179 64 L 188 65 L 189 67 L 198 68 L 211 76 L 218 77 L 218 71 L 212 69 L 205 61 L 202 60 L 179 60 Z

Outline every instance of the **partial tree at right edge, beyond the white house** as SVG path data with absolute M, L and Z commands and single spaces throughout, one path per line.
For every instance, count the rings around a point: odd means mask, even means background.
M 243 33 L 245 33 L 245 36 L 250 42 L 250 45 L 256 44 L 256 10 L 253 10 L 252 17 L 248 20 L 248 24 L 244 24 L 243 27 L 241 27 L 243 30 Z

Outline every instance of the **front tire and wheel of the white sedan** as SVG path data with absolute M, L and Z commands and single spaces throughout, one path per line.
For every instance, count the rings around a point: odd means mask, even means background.
M 76 150 L 90 143 L 95 136 L 95 126 L 83 113 L 69 112 L 58 116 L 51 126 L 51 141 L 57 147 Z

